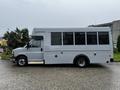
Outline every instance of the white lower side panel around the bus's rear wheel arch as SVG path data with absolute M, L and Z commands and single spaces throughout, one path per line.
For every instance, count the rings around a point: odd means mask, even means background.
M 110 61 L 111 51 L 50 51 L 44 54 L 45 64 L 72 64 L 77 55 L 85 55 L 90 63 L 106 63 Z

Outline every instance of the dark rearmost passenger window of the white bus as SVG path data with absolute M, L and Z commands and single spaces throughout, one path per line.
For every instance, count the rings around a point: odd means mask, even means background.
M 109 33 L 98 32 L 99 44 L 109 44 Z

